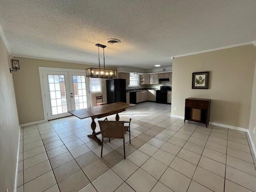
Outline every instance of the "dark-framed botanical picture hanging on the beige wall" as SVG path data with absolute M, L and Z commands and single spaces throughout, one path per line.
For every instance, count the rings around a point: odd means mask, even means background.
M 192 89 L 208 89 L 209 72 L 192 73 Z

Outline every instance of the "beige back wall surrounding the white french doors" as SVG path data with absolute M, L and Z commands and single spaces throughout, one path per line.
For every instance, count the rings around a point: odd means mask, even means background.
M 20 124 L 44 120 L 38 67 L 82 69 L 96 67 L 85 64 L 15 57 L 20 61 L 20 70 L 13 74 L 14 88 Z M 107 67 L 109 68 L 109 67 Z M 110 68 L 116 69 L 116 68 Z M 102 79 L 102 94 L 106 102 L 106 79 Z M 92 96 L 95 103 L 95 96 Z

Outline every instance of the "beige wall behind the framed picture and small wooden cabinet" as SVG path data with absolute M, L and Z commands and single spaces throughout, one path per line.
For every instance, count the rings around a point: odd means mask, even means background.
M 248 129 L 255 61 L 254 45 L 174 58 L 172 115 L 184 116 L 188 97 L 208 98 L 211 122 Z M 192 90 L 192 72 L 203 71 L 210 71 L 209 89 Z

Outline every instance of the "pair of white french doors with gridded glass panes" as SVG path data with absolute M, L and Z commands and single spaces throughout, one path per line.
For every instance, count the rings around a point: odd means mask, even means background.
M 70 116 L 68 111 L 90 107 L 85 72 L 42 71 L 48 120 Z

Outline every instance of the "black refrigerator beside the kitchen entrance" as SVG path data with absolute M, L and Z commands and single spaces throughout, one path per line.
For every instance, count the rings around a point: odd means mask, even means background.
M 126 82 L 125 79 L 106 80 L 107 102 L 125 102 L 126 103 Z

